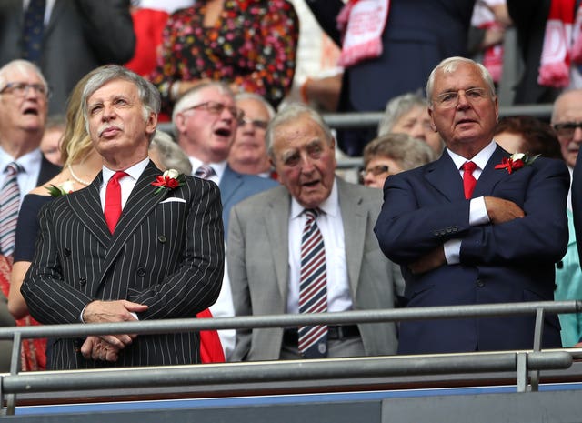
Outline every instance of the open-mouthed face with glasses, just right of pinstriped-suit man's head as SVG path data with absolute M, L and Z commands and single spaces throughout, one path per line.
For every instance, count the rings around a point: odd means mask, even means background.
M 193 104 L 176 116 L 180 146 L 186 155 L 212 162 L 226 160 L 236 135 L 234 110 L 235 100 L 219 87 L 200 90 Z

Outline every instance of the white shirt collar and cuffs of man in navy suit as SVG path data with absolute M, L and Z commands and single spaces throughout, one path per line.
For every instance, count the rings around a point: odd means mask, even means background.
M 477 168 L 473 171 L 473 176 L 477 181 L 479 180 L 479 176 L 483 172 L 483 169 L 487 165 L 489 158 L 493 156 L 495 149 L 497 148 L 497 144 L 495 141 L 491 141 L 485 148 L 477 153 L 476 156 L 473 156 L 470 161 L 477 165 Z M 447 153 L 453 159 L 455 166 L 459 169 L 459 176 L 461 179 L 463 178 L 464 171 L 461 169 L 461 166 L 468 161 L 467 158 L 463 156 L 459 156 L 456 153 L 453 153 L 451 150 L 447 148 Z M 487 207 L 485 206 L 485 197 L 479 196 L 477 198 L 472 198 L 471 203 L 469 205 L 469 225 L 472 227 L 476 227 L 477 225 L 484 225 L 489 222 L 489 216 L 487 215 Z M 447 259 L 447 264 L 449 265 L 456 265 L 460 263 L 460 253 L 461 253 L 461 240 L 460 239 L 449 239 L 445 245 L 445 258 Z

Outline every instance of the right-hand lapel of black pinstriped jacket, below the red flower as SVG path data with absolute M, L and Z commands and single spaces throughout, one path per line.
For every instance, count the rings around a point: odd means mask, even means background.
M 152 182 L 156 180 L 156 176 L 162 175 L 162 172 L 154 166 L 153 162 L 149 162 L 146 169 L 135 183 L 124 210 L 119 217 L 119 222 L 115 227 L 115 233 L 111 238 L 111 245 L 107 250 L 105 259 L 103 261 L 103 271 L 101 277 L 105 276 L 107 270 L 115 261 L 115 257 L 121 252 L 125 246 L 127 239 L 132 236 L 135 228 L 150 215 L 157 204 L 164 200 L 168 195 L 168 190 L 164 189 L 158 194 L 154 194 L 156 187 L 152 186 Z M 102 213 L 103 215 L 103 213 Z M 103 218 L 104 227 L 106 229 L 105 217 Z M 108 233 L 108 230 L 107 230 Z

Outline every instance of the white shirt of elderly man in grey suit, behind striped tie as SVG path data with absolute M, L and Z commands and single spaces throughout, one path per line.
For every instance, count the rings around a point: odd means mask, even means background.
M 324 212 L 317 219 L 326 247 L 327 311 L 346 311 L 352 309 L 352 296 L 347 281 L 346 245 L 344 224 L 339 207 L 337 183 L 331 194 L 319 208 Z M 301 275 L 301 236 L 306 225 L 304 207 L 291 199 L 289 218 L 289 292 L 287 313 L 299 312 L 299 279 Z

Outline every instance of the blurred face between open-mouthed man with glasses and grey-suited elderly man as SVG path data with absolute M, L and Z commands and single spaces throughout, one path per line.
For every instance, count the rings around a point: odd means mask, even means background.
M 239 100 L 236 106 L 245 112 L 245 118 L 236 129 L 236 138 L 230 149 L 229 161 L 231 159 L 242 163 L 264 161 L 268 169 L 265 133 L 269 113 L 266 107 L 254 98 Z

